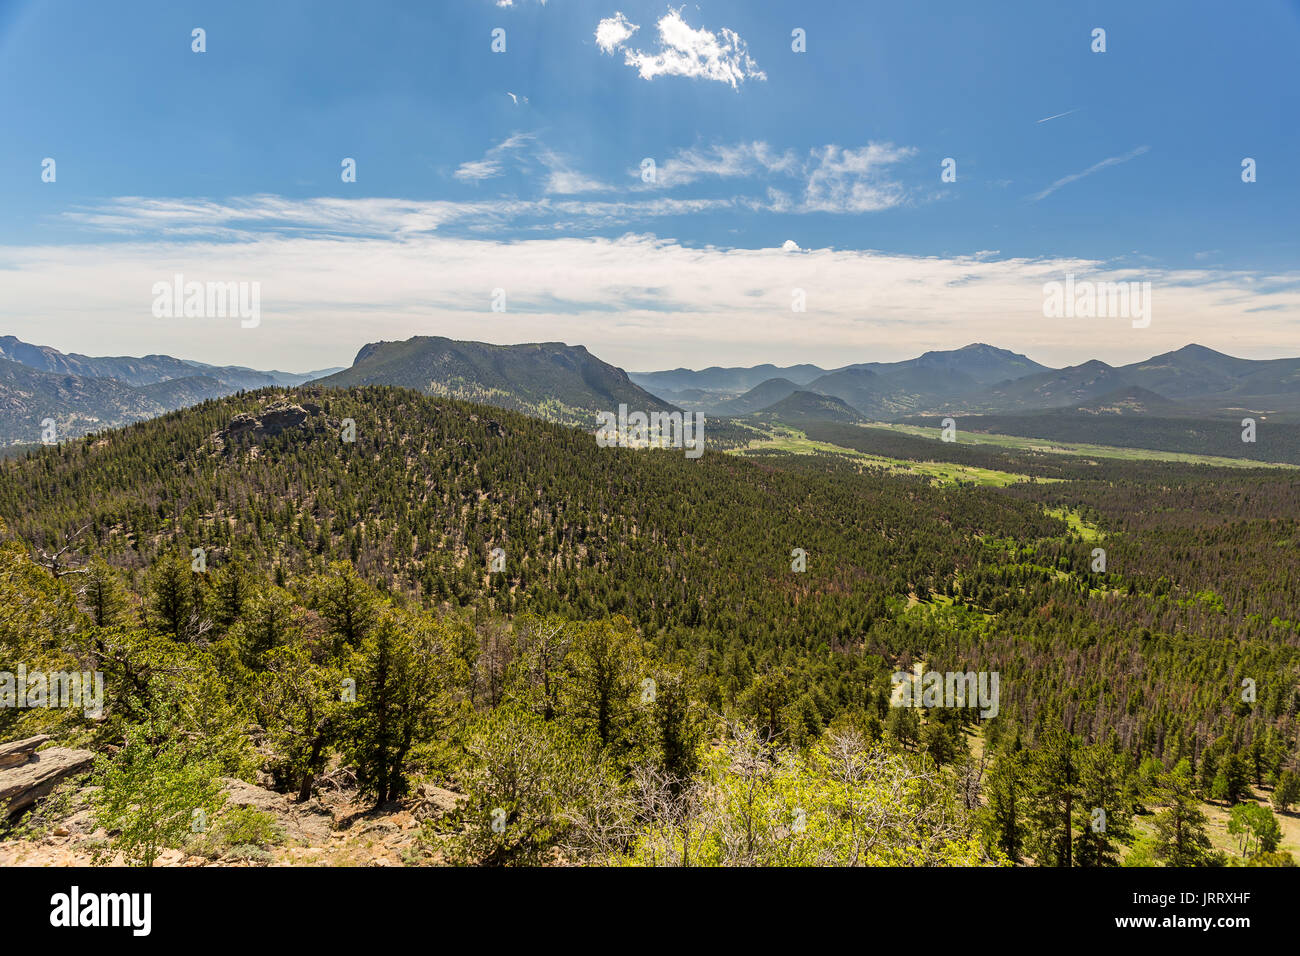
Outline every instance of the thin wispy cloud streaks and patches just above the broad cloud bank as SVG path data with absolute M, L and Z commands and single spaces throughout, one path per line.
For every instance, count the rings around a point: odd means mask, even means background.
M 649 189 L 611 199 L 614 186 L 575 169 L 568 157 L 542 146 L 534 134 L 515 133 L 482 159 L 462 163 L 462 182 L 480 183 L 504 174 L 507 157 L 537 183 L 533 198 L 485 196 L 472 200 L 274 195 L 205 198 L 118 196 L 60 213 L 65 222 L 114 235 L 165 235 L 176 239 L 254 239 L 266 233 L 315 238 L 415 237 L 437 232 L 491 233 L 514 229 L 550 235 L 590 233 L 653 222 L 668 216 L 720 212 L 866 213 L 909 202 L 907 187 L 889 166 L 915 155 L 910 147 L 868 143 L 835 144 L 806 157 L 764 143 L 688 150 L 664 161 L 671 185 L 703 177 L 759 179 L 759 191 L 731 196 L 667 196 Z M 771 177 L 788 183 L 779 189 Z M 572 198 L 569 198 L 572 196 Z

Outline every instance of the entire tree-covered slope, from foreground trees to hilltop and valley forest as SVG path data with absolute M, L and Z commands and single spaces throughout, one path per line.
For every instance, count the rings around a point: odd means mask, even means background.
M 214 814 L 218 774 L 346 766 L 464 793 L 428 835 L 462 862 L 1213 861 L 1201 801 L 1294 782 L 1300 492 L 991 454 L 1057 480 L 601 449 L 390 388 L 39 449 L 0 466 L 0 669 L 101 670 L 105 714 L 4 737 L 104 748 L 124 834 L 144 766 Z M 997 715 L 893 706 L 914 665 L 997 672 Z

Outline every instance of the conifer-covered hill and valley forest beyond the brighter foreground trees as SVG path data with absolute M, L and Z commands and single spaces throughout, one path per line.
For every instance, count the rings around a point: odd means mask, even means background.
M 833 455 L 692 460 L 410 390 L 307 386 L 9 462 L 0 518 L 46 553 L 84 528 L 79 549 L 142 588 L 144 568 L 202 548 L 211 568 L 277 579 L 351 561 L 396 596 L 481 615 L 621 614 L 692 661 L 711 705 L 798 713 L 809 730 L 880 706 L 914 657 L 1001 671 L 1004 719 L 1027 731 L 1054 715 L 1162 758 L 1294 721 L 1294 479 L 1088 472 L 993 489 Z M 1102 574 L 1096 541 L 1046 514 L 1076 501 L 1110 532 Z M 1242 711 L 1247 675 L 1266 704 Z

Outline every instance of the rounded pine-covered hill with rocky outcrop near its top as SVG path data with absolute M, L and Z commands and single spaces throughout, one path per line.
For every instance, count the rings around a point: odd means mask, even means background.
M 980 536 L 1062 531 L 1006 497 L 599 449 L 578 429 L 403 389 L 298 389 L 287 395 L 303 420 L 290 424 L 274 411 L 285 394 L 208 402 L 13 462 L 0 516 L 42 548 L 88 524 L 125 567 L 192 548 L 289 572 L 343 558 L 436 602 L 486 592 L 502 610 L 620 613 L 746 646 L 858 641 L 887 598 L 941 589 L 975 563 Z M 793 575 L 800 546 L 815 558 Z M 504 575 L 488 574 L 493 548 L 506 550 Z

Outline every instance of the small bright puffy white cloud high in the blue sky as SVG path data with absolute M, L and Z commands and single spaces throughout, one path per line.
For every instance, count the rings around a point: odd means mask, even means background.
M 624 62 L 634 66 L 642 79 L 694 77 L 727 83 L 733 90 L 746 79 L 767 79 L 734 30 L 723 27 L 720 36 L 711 30 L 696 30 L 682 20 L 680 10 L 668 10 L 655 26 L 659 48 L 654 52 L 624 46 L 638 27 L 621 13 L 599 22 L 595 42 L 606 53 L 623 49 Z

